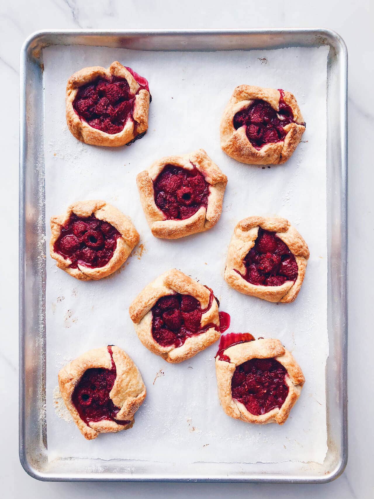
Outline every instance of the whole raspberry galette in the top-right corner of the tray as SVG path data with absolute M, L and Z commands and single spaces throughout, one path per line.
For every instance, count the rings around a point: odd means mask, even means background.
M 274 88 L 240 85 L 221 119 L 221 148 L 252 165 L 285 163 L 305 132 L 295 97 Z

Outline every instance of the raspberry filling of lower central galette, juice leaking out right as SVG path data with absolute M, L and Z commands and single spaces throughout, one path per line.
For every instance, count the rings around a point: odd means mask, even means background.
M 206 324 L 202 328 L 200 327 L 201 316 L 209 310 L 213 299 L 216 298 L 210 290 L 209 303 L 205 309 L 201 308 L 200 302 L 196 298 L 188 294 L 176 293 L 157 300 L 157 303 L 152 307 L 152 336 L 154 340 L 163 347 L 173 345 L 178 348 L 190 336 L 203 333 L 210 327 L 219 331 L 220 328 L 216 324 Z M 222 330 L 225 330 L 226 326 L 228 327 L 227 322 L 229 323 L 229 319 L 224 317 Z

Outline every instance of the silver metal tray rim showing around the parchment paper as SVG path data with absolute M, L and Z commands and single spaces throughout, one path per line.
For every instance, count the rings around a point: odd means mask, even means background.
M 327 77 L 328 452 L 317 463 L 178 463 L 61 459 L 48 463 L 45 421 L 44 102 L 42 48 L 94 45 L 141 50 L 238 50 L 329 45 Z M 329 29 L 55 30 L 20 53 L 19 457 L 43 481 L 327 483 L 348 459 L 347 435 L 347 48 Z M 332 135 L 334 132 L 334 136 Z M 334 140 L 332 140 L 334 139 Z M 101 471 L 98 471 L 98 470 Z

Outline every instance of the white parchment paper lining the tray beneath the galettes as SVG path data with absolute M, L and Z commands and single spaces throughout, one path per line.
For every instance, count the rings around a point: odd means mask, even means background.
M 327 451 L 325 364 L 327 335 L 326 65 L 327 47 L 230 52 L 137 52 L 98 47 L 48 47 L 45 69 L 46 219 L 82 199 L 105 199 L 129 215 L 141 241 L 117 273 L 79 282 L 47 256 L 48 458 L 90 457 L 161 462 L 322 463 Z M 84 66 L 113 60 L 147 77 L 153 97 L 147 135 L 130 147 L 81 144 L 64 118 L 66 80 Z M 263 168 L 228 158 L 219 148 L 222 110 L 237 84 L 291 90 L 307 122 L 303 142 L 285 164 Z M 220 221 L 179 241 L 153 238 L 135 177 L 155 159 L 203 147 L 228 176 Z M 306 239 L 311 258 L 297 300 L 274 304 L 227 287 L 224 260 L 233 228 L 249 215 L 288 218 Z M 49 238 L 47 229 L 47 238 Z M 171 266 L 213 288 L 230 331 L 277 337 L 306 377 L 302 395 L 283 427 L 256 427 L 219 407 L 212 345 L 193 359 L 169 365 L 146 350 L 128 316 L 144 285 Z M 53 397 L 57 372 L 85 350 L 118 344 L 137 363 L 147 386 L 134 427 L 86 442 L 65 421 Z M 54 407 L 60 408 L 55 411 Z M 66 418 L 67 419 L 67 418 Z M 243 445 L 245 442 L 245 445 Z

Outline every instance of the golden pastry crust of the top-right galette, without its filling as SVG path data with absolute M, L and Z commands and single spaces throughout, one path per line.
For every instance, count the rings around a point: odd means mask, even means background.
M 278 111 L 280 92 L 274 88 L 262 88 L 252 85 L 239 85 L 236 87 L 223 111 L 219 128 L 222 150 L 241 163 L 252 165 L 285 163 L 300 142 L 305 132 L 305 124 L 292 93 L 285 91 L 283 98 L 285 103 L 291 107 L 296 123 L 289 123 L 284 127 L 287 134 L 283 141 L 265 144 L 260 150 L 257 150 L 249 142 L 243 127 L 235 130 L 234 116 L 238 111 L 249 107 L 254 100 L 264 100 Z

